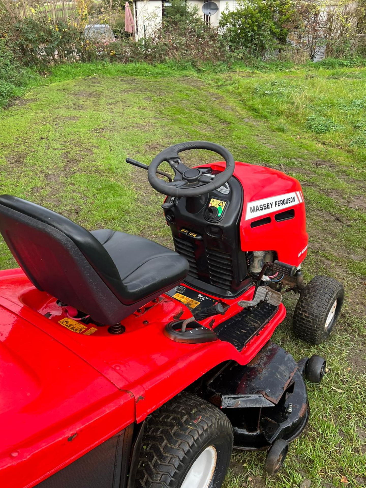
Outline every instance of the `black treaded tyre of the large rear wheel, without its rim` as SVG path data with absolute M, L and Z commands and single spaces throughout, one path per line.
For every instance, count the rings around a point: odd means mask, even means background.
M 230 421 L 217 407 L 188 393 L 180 393 L 146 420 L 136 473 L 136 488 L 178 488 L 188 465 L 205 446 L 212 432 L 227 436 L 227 460 L 221 469 L 224 480 L 233 442 Z M 214 483 L 213 487 L 220 487 Z

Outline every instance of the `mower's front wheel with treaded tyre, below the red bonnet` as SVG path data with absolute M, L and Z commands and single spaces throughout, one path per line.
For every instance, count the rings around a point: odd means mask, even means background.
M 339 281 L 315 276 L 302 290 L 292 326 L 294 334 L 309 344 L 321 344 L 329 336 L 340 314 L 345 291 Z

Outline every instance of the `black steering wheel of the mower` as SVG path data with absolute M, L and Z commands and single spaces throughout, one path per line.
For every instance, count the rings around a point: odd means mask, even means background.
M 206 149 L 220 154 L 226 162 L 226 167 L 222 173 L 215 178 L 205 175 L 199 168 L 188 168 L 179 158 L 179 153 L 191 149 Z M 174 180 L 165 182 L 156 176 L 159 166 L 167 161 L 174 170 Z M 149 165 L 147 176 L 149 183 L 155 190 L 171 197 L 199 197 L 212 190 L 220 188 L 226 183 L 235 169 L 233 155 L 220 144 L 206 141 L 182 142 L 174 146 L 167 147 L 152 160 Z

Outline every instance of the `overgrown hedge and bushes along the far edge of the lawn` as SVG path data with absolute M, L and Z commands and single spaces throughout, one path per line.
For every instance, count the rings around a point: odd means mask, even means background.
M 124 32 L 120 0 L 0 0 L 0 38 L 25 66 L 102 60 L 162 63 L 169 60 L 232 63 L 274 59 L 305 62 L 326 56 L 352 58 L 366 51 L 365 1 L 329 6 L 310 0 L 239 0 L 207 25 L 197 7 L 173 0 L 153 36 Z M 109 24 L 113 42 L 85 36 L 85 26 Z M 158 24 L 157 24 L 158 25 Z

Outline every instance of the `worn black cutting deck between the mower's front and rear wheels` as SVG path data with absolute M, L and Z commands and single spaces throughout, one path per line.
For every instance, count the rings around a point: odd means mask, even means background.
M 296 363 L 268 341 L 250 363 L 227 365 L 198 394 L 230 419 L 236 448 L 266 450 L 279 438 L 291 442 L 307 424 L 306 360 Z

